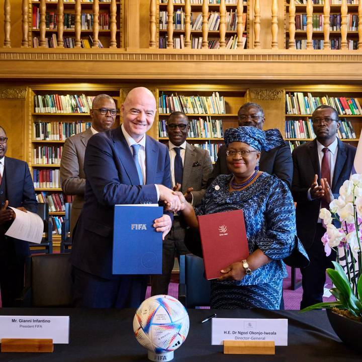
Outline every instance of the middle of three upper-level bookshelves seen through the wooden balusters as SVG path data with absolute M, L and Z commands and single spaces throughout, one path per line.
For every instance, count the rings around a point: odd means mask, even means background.
M 167 48 L 167 7 L 168 0 L 157 0 L 157 45 L 158 48 Z M 190 48 L 202 48 L 202 22 L 203 22 L 203 0 L 191 0 L 191 36 Z M 237 48 L 237 3 L 238 0 L 225 1 L 225 47 L 227 49 Z M 244 48 L 248 47 L 247 41 L 247 19 L 249 19 L 249 6 L 247 1 L 242 1 L 243 6 L 243 36 Z M 173 48 L 182 49 L 185 47 L 185 22 L 186 6 L 184 0 L 173 0 Z M 220 0 L 208 0 L 208 48 L 217 49 L 220 47 Z

